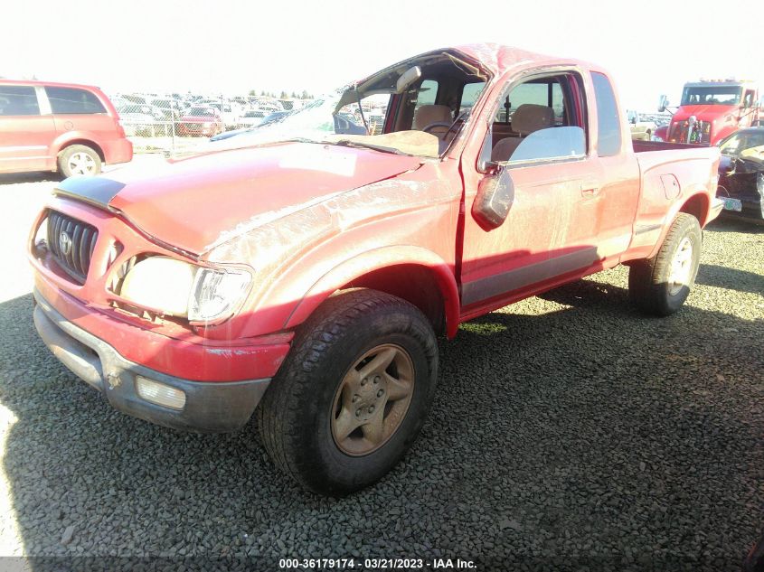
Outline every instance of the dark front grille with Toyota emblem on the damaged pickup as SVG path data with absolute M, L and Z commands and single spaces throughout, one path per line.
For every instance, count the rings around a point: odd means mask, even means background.
M 85 284 L 90 258 L 96 248 L 99 231 L 81 220 L 48 212 L 48 248 L 59 266 L 79 284 Z

